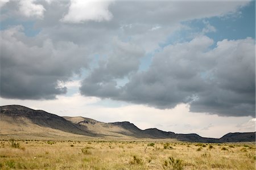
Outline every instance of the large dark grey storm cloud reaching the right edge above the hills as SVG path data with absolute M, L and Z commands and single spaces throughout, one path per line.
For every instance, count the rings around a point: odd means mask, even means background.
M 221 116 L 255 116 L 254 40 L 223 40 L 209 49 L 213 40 L 206 36 L 190 42 L 166 46 L 155 55 L 147 71 L 131 75 L 129 82 L 115 88 L 98 79 L 94 94 L 84 81 L 82 94 L 146 104 L 156 108 L 174 108 L 179 103 L 191 105 L 192 112 Z M 118 64 L 118 63 L 117 63 Z M 108 71 L 97 73 L 104 76 Z M 97 75 L 90 75 L 97 76 Z M 97 79 L 97 78 L 94 78 Z M 109 90 L 108 90 L 109 88 Z M 89 91 L 89 92 L 88 92 Z

